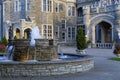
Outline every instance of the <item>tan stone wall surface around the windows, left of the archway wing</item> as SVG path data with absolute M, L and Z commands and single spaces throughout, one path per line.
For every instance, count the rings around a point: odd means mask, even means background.
M 52 34 L 52 38 L 55 38 L 56 36 L 56 32 L 59 33 L 59 41 L 63 41 L 62 40 L 62 33 L 65 32 L 65 38 L 66 38 L 66 42 L 74 42 L 75 40 L 68 40 L 67 38 L 67 28 L 71 27 L 71 28 L 76 28 L 76 21 L 77 18 L 76 16 L 67 16 L 67 8 L 68 6 L 74 6 L 76 7 L 76 3 L 75 2 L 68 2 L 67 0 L 53 0 L 53 11 L 52 12 L 43 12 L 42 11 L 42 0 L 30 0 L 30 11 L 26 11 L 25 8 L 25 2 L 24 0 L 20 0 L 21 2 L 21 11 L 14 11 L 14 1 L 15 0 L 11 0 L 11 5 L 9 9 L 9 16 L 10 16 L 10 20 L 11 22 L 13 22 L 14 24 L 16 23 L 20 23 L 19 25 L 14 25 L 14 36 L 16 34 L 15 30 L 16 28 L 20 29 L 20 38 L 22 38 L 24 36 L 24 30 L 27 28 L 32 28 L 34 26 L 38 26 L 40 29 L 40 34 L 42 35 L 42 26 L 44 24 L 46 25 L 52 25 L 53 27 L 53 34 Z M 60 12 L 56 12 L 56 4 L 60 3 L 62 5 Z M 7 14 L 8 15 L 8 14 Z M 31 21 L 34 21 L 34 23 L 30 23 L 26 25 L 25 21 L 20 22 L 20 19 L 26 19 L 26 17 L 29 16 Z M 66 20 L 66 29 L 62 29 L 62 20 Z M 25 24 L 25 25 L 24 25 Z M 35 24 L 35 25 L 34 25 Z M 56 29 L 56 27 L 59 27 L 59 31 L 58 29 Z M 75 33 L 76 35 L 76 33 Z M 69 44 L 69 43 L 68 43 Z

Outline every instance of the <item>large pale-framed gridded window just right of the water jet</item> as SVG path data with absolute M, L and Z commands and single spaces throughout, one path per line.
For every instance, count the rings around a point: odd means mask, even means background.
M 53 29 L 51 25 L 43 25 L 43 37 L 46 39 L 53 38 Z

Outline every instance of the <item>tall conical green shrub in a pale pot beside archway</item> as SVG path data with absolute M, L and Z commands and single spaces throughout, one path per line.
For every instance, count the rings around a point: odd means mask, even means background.
M 77 53 L 85 54 L 85 48 L 86 48 L 86 39 L 85 35 L 83 33 L 83 28 L 79 28 L 77 35 L 76 35 L 76 44 L 77 44 Z

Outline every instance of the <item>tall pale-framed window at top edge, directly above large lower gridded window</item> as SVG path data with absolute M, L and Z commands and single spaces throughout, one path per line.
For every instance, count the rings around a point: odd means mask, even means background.
M 44 12 L 52 12 L 52 0 L 43 0 L 42 9 Z

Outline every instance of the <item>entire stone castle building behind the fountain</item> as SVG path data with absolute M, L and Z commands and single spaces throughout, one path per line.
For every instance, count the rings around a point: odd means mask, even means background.
M 120 41 L 120 0 L 3 0 L 3 34 L 30 38 L 38 26 L 44 38 L 74 44 L 77 29 L 93 44 Z

